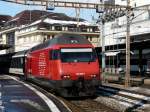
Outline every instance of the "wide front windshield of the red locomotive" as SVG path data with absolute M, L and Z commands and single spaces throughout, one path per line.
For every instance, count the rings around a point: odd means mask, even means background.
M 62 62 L 93 62 L 96 54 L 92 48 L 61 49 Z

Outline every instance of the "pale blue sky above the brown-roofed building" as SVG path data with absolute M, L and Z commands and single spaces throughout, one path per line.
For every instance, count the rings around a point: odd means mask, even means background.
M 79 0 L 74 0 L 74 1 L 79 1 Z M 82 0 L 82 1 L 83 2 L 94 2 L 94 1 L 98 2 L 99 0 Z M 0 15 L 14 16 L 23 10 L 46 10 L 46 8 L 41 7 L 41 6 L 28 6 L 28 5 L 21 5 L 21 4 L 0 1 Z M 55 10 L 53 10 L 52 12 L 66 13 L 68 16 L 72 16 L 72 17 L 76 16 L 74 8 L 69 9 L 69 8 L 55 7 Z M 97 18 L 97 17 L 98 17 L 98 14 L 96 14 L 95 10 L 80 9 L 80 18 L 86 19 L 91 22 L 93 20 L 92 18 Z

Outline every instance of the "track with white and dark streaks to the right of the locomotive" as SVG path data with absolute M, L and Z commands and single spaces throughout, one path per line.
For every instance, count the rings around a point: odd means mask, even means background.
M 150 96 L 144 93 L 142 94 L 142 92 L 136 93 L 130 90 L 101 86 L 99 87 L 97 93 L 99 95 L 114 99 L 114 101 L 118 102 L 122 106 L 123 111 L 138 110 L 150 104 Z

